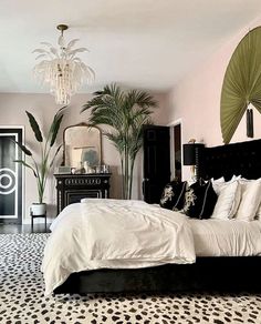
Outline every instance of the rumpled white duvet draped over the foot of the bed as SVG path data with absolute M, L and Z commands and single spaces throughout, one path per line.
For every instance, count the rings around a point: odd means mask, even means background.
M 194 263 L 187 219 L 143 201 L 86 199 L 51 225 L 42 262 L 45 295 L 73 272 Z

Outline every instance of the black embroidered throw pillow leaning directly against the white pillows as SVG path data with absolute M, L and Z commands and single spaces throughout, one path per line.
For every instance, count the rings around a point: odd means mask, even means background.
M 209 219 L 213 212 L 217 193 L 212 188 L 211 181 L 195 182 L 185 193 L 184 213 L 189 217 Z

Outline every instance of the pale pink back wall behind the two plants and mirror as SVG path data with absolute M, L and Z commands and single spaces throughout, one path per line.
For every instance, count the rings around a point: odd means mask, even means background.
M 159 108 L 154 114 L 154 121 L 158 124 L 166 123 L 166 114 L 160 113 L 166 105 L 165 94 L 155 94 L 155 99 L 159 103 Z M 62 142 L 62 131 L 67 125 L 76 124 L 79 122 L 87 122 L 88 112 L 80 114 L 82 105 L 91 98 L 90 94 L 77 94 L 72 98 L 70 107 L 66 109 L 61 131 L 58 136 L 58 142 Z M 0 94 L 0 125 L 24 125 L 25 143 L 33 150 L 34 149 L 34 134 L 28 124 L 25 110 L 32 112 L 39 123 L 42 126 L 43 133 L 46 132 L 50 123 L 52 122 L 53 115 L 58 110 L 54 103 L 53 97 L 50 94 L 21 94 L 21 93 L 1 93 Z M 111 181 L 111 196 L 121 198 L 121 175 L 119 175 L 119 159 L 118 153 L 113 144 L 103 136 L 103 162 L 111 166 L 113 172 Z M 58 161 L 56 165 L 61 162 Z M 55 165 L 55 166 L 56 166 Z M 133 198 L 142 199 L 142 154 L 138 154 L 135 173 L 134 173 L 134 188 Z M 30 222 L 29 219 L 29 206 L 32 202 L 38 199 L 35 180 L 30 172 L 25 170 L 24 181 L 24 222 Z M 46 185 L 45 202 L 49 205 L 49 215 L 55 215 L 56 193 L 54 178 L 50 176 Z M 41 221 L 41 220 L 40 220 Z

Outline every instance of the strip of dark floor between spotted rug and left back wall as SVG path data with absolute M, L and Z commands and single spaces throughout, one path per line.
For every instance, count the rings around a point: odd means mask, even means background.
M 1 224 L 0 223 L 0 234 L 29 234 L 29 233 L 50 233 L 51 224 L 33 224 L 33 230 L 31 229 L 31 224 Z

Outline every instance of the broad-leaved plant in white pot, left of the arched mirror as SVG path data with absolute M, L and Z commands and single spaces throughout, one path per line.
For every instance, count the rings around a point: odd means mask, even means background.
M 28 146 L 19 142 L 15 142 L 22 150 L 22 152 L 25 154 L 25 156 L 28 156 L 31 160 L 31 162 L 25 162 L 23 160 L 14 160 L 14 162 L 21 163 L 22 165 L 31 169 L 36 179 L 38 202 L 33 203 L 30 207 L 31 213 L 33 215 L 44 215 L 46 213 L 46 204 L 43 202 L 43 196 L 50 169 L 53 166 L 54 160 L 62 146 L 62 145 L 58 146 L 56 150 L 54 150 L 53 148 L 63 119 L 62 113 L 63 109 L 64 108 L 60 109 L 58 113 L 54 115 L 45 139 L 42 135 L 42 132 L 35 118 L 32 115 L 32 113 L 27 111 L 29 123 L 34 133 L 35 140 L 39 143 L 40 161 L 35 160 L 32 151 Z

